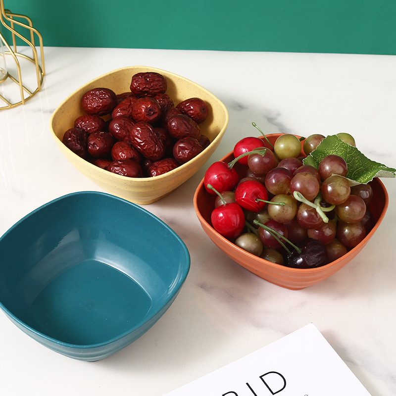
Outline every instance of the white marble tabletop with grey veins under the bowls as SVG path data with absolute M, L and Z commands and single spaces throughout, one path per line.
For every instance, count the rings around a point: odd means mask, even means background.
M 201 230 L 192 204 L 207 166 L 240 138 L 258 135 L 252 121 L 266 133 L 348 132 L 369 158 L 395 167 L 395 56 L 45 48 L 45 61 L 42 92 L 0 111 L 0 235 L 53 198 L 102 191 L 55 147 L 49 118 L 62 99 L 103 73 L 129 65 L 175 72 L 222 100 L 230 122 L 204 168 L 145 206 L 191 254 L 187 281 L 165 315 L 129 347 L 87 363 L 41 346 L 1 312 L 1 395 L 161 396 L 309 322 L 373 396 L 396 394 L 395 179 L 384 180 L 390 207 L 365 249 L 300 291 L 228 259 Z

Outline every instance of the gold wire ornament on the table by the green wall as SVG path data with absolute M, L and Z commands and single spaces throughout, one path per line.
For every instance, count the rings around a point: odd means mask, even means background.
M 0 88 L 2 91 L 5 91 L 4 85 L 10 84 L 15 88 L 19 93 L 14 96 L 14 98 L 10 98 L 4 92 L 0 91 L 0 110 L 6 109 L 10 107 L 17 106 L 18 104 L 25 104 L 26 100 L 32 98 L 37 92 L 41 90 L 45 67 L 44 67 L 44 50 L 43 50 L 43 39 L 40 33 L 33 28 L 33 24 L 30 18 L 25 15 L 13 14 L 10 10 L 4 9 L 3 0 L 0 0 Z M 12 44 L 9 45 L 1 33 L 1 26 L 5 27 L 6 30 L 11 32 L 10 37 Z M 27 36 L 30 34 L 30 40 L 24 37 L 18 31 L 23 31 Z M 26 30 L 27 29 L 27 32 Z M 40 57 L 38 51 L 35 46 L 35 36 L 39 39 L 39 47 L 40 47 Z M 17 38 L 19 41 L 22 41 L 22 49 L 21 52 L 17 50 Z M 23 44 L 24 43 L 24 44 Z M 24 51 L 26 49 L 32 50 L 32 55 L 27 56 Z M 3 49 L 3 50 L 1 50 Z M 5 50 L 4 50 L 5 49 Z M 30 54 L 30 52 L 29 52 Z M 7 56 L 5 56 L 7 55 Z M 2 59 L 1 59 L 2 58 Z M 13 63 L 11 67 L 7 67 L 5 58 L 12 58 Z M 25 62 L 32 66 L 32 63 L 35 67 L 35 71 L 30 74 L 34 74 L 32 86 L 33 88 L 28 89 L 26 84 L 22 83 L 22 70 L 21 70 L 21 61 Z M 36 80 L 37 79 L 37 84 Z

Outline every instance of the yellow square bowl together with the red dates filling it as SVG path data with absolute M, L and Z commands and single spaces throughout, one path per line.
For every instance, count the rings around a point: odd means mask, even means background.
M 194 175 L 227 125 L 226 107 L 203 87 L 165 70 L 131 66 L 63 100 L 51 116 L 50 132 L 85 176 L 111 194 L 148 204 Z M 187 137 L 197 142 L 183 141 L 173 150 Z M 113 158 L 112 148 L 121 142 L 129 148 L 116 148 Z

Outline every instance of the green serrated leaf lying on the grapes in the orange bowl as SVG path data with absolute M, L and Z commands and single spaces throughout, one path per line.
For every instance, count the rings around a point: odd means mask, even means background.
M 318 169 L 320 161 L 330 154 L 345 159 L 348 165 L 347 179 L 351 185 L 366 184 L 375 177 L 396 177 L 396 169 L 368 159 L 357 148 L 348 145 L 337 135 L 323 139 L 320 145 L 303 159 L 303 163 Z

